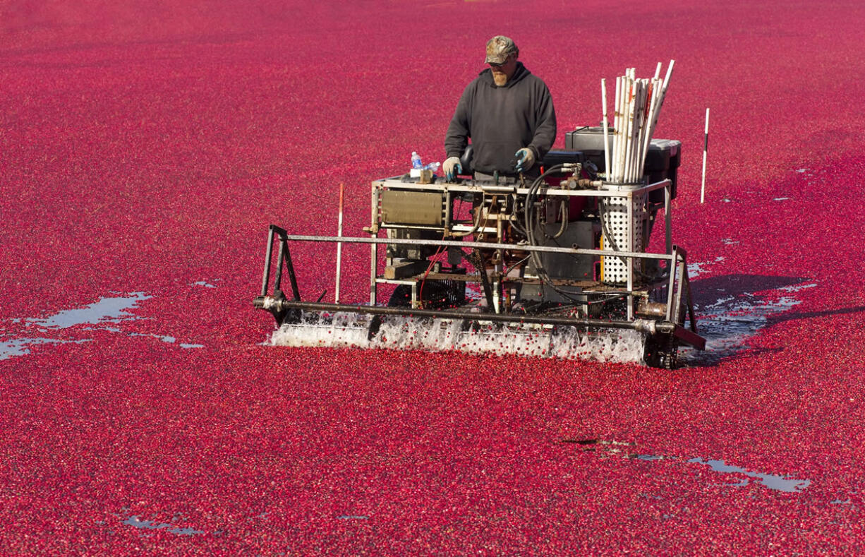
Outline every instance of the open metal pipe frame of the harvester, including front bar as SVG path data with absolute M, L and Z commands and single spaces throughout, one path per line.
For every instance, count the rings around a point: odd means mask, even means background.
M 578 165 L 579 166 L 579 165 Z M 571 166 L 565 165 L 562 173 L 572 171 Z M 576 176 L 576 172 L 573 172 Z M 562 182 L 563 184 L 565 182 Z M 663 203 L 649 203 L 648 210 L 651 211 L 651 219 L 644 219 L 640 225 L 634 223 L 638 220 L 634 218 L 634 198 L 644 195 L 644 199 L 648 200 L 650 192 L 663 189 Z M 530 194 L 530 188 L 525 182 L 512 183 L 495 183 L 483 181 L 466 181 L 459 183 L 417 183 L 407 180 L 405 176 L 396 176 L 383 180 L 372 182 L 371 186 L 371 202 L 370 202 L 370 217 L 371 224 L 365 227 L 364 231 L 368 232 L 368 237 L 342 237 L 342 236 L 311 236 L 311 235 L 294 235 L 288 234 L 285 229 L 276 225 L 271 225 L 268 232 L 264 275 L 261 285 L 261 294 L 255 298 L 253 304 L 255 307 L 270 311 L 279 325 L 283 323 L 297 323 L 301 314 L 304 311 L 319 312 L 323 316 L 332 315 L 336 312 L 354 312 L 358 314 L 369 314 L 374 316 L 372 319 L 369 335 L 374 336 L 377 330 L 376 322 L 381 319 L 381 316 L 400 315 L 412 316 L 419 318 L 441 318 L 461 320 L 465 323 L 524 323 L 526 325 L 544 325 L 547 327 L 575 327 L 580 330 L 622 330 L 630 329 L 637 330 L 646 336 L 646 352 L 645 361 L 650 365 L 662 368 L 672 368 L 676 365 L 676 350 L 679 344 L 687 344 L 696 349 L 705 348 L 705 340 L 697 334 L 696 319 L 694 308 L 691 302 L 690 287 L 687 269 L 687 253 L 682 247 L 675 246 L 671 238 L 671 214 L 670 214 L 670 199 L 671 199 L 671 182 L 665 179 L 659 182 L 650 184 L 610 184 L 607 182 L 588 182 L 582 180 L 577 185 L 577 182 L 572 182 L 569 187 L 552 187 L 544 183 L 540 189 L 536 189 L 535 193 L 539 198 L 549 199 L 552 201 L 567 202 L 571 197 L 588 197 L 597 200 L 604 198 L 617 197 L 626 198 L 627 201 L 627 216 L 628 223 L 627 234 L 631 239 L 630 246 L 633 246 L 633 238 L 638 231 L 636 226 L 643 226 L 642 234 L 638 234 L 648 243 L 650 227 L 654 220 L 657 210 L 663 207 L 665 221 L 665 247 L 666 253 L 648 253 L 646 251 L 622 251 L 618 249 L 599 249 L 598 246 L 549 246 L 549 245 L 530 245 L 525 241 L 520 243 L 511 243 L 503 241 L 503 226 L 508 226 L 508 221 L 515 218 L 515 213 L 500 214 L 497 220 L 491 226 L 490 221 L 484 221 L 484 226 L 479 226 L 479 217 L 476 222 L 458 221 L 453 218 L 453 203 L 458 198 L 470 197 L 471 199 L 481 199 L 481 205 L 484 204 L 484 199 L 487 196 L 502 196 L 515 202 L 527 199 Z M 405 192 L 409 195 L 409 199 L 415 194 L 426 195 L 422 197 L 422 202 L 429 205 L 424 210 L 427 213 L 426 222 L 420 224 L 418 222 L 388 222 L 382 214 L 381 198 L 384 192 Z M 434 195 L 432 195 L 434 194 Z M 439 217 L 435 215 L 435 195 L 439 195 L 441 202 L 441 214 Z M 429 202 L 429 203 L 428 203 Z M 599 201 L 600 202 L 600 201 Z M 648 203 L 648 201 L 647 201 Z M 432 215 L 432 216 L 430 216 Z M 411 220 L 411 219 L 405 219 Z M 441 240 L 436 239 L 413 239 L 413 238 L 398 238 L 388 237 L 381 238 L 381 231 L 430 231 L 436 234 L 442 234 Z M 394 236 L 394 233 L 391 233 Z M 429 235 L 429 232 L 426 233 Z M 473 236 L 473 241 L 460 240 L 463 237 Z M 457 238 L 457 240 L 446 240 L 446 238 Z M 478 239 L 481 241 L 478 241 Z M 490 240 L 487 240 L 490 239 Z M 273 245 L 274 241 L 278 242 L 279 249 L 277 253 L 277 262 L 275 269 L 272 265 Z M 292 254 L 290 252 L 290 242 L 330 242 L 338 244 L 368 244 L 370 246 L 370 266 L 369 266 L 369 301 L 368 304 L 338 304 L 324 303 L 324 293 L 317 301 L 303 301 L 300 298 L 298 288 L 298 280 L 294 271 L 292 262 Z M 454 272 L 441 272 L 441 269 L 436 269 L 436 272 L 431 272 L 433 263 L 431 262 L 426 268 L 426 272 L 409 272 L 407 276 L 392 276 L 387 278 L 385 273 L 380 272 L 380 253 L 379 246 L 382 244 L 387 246 L 404 246 L 409 248 L 422 249 L 437 248 L 439 250 L 448 248 L 458 248 L 461 253 L 468 258 L 468 254 L 462 252 L 463 249 L 470 249 L 472 253 L 477 254 L 478 258 L 487 256 L 492 259 L 497 257 L 497 260 L 503 260 L 502 255 L 506 252 L 518 253 L 556 253 L 569 254 L 585 258 L 624 258 L 638 260 L 655 260 L 656 262 L 666 262 L 666 276 L 656 280 L 647 281 L 644 277 L 638 277 L 634 272 L 633 265 L 627 265 L 627 279 L 624 284 L 609 284 L 597 278 L 594 279 L 552 279 L 547 281 L 548 284 L 559 285 L 561 287 L 569 286 L 579 288 L 586 297 L 593 294 L 603 293 L 604 296 L 617 296 L 619 299 L 625 300 L 625 311 L 621 317 L 599 317 L 592 315 L 580 315 L 579 311 L 569 311 L 564 314 L 554 315 L 550 313 L 533 314 L 525 311 L 511 311 L 512 308 L 508 304 L 503 303 L 502 298 L 496 298 L 492 292 L 503 291 L 503 285 L 542 285 L 545 281 L 539 277 L 524 276 L 503 276 L 501 270 L 498 272 L 495 269 L 487 268 L 484 264 L 484 259 L 477 259 L 481 265 L 476 266 L 475 273 L 465 272 L 457 274 Z M 527 258 L 528 259 L 528 258 Z M 421 258 L 418 262 L 426 263 L 426 257 Z M 388 263 L 390 259 L 388 258 Z M 454 265 L 456 267 L 456 265 Z M 386 267 L 388 270 L 389 267 Z M 483 269 L 483 271 L 478 271 Z M 283 272 L 287 272 L 290 281 L 290 297 L 286 297 L 282 290 Z M 392 271 L 392 270 L 391 270 Z M 337 280 L 340 270 L 336 269 Z M 393 272 L 391 272 L 393 274 Z M 270 289 L 270 277 L 273 275 L 273 288 Z M 461 281 L 474 282 L 483 285 L 484 296 L 487 298 L 486 307 L 422 307 L 423 300 L 420 299 L 418 293 L 418 285 L 424 282 L 436 281 Z M 394 307 L 392 304 L 383 305 L 379 300 L 379 285 L 406 285 L 410 287 L 410 304 L 400 307 Z M 665 300 L 654 303 L 654 307 L 647 311 L 646 308 L 652 304 L 648 304 L 650 294 L 660 293 L 665 294 Z M 606 299 L 606 298 L 605 298 Z M 638 304 L 638 301 L 640 304 Z M 689 321 L 689 326 L 685 326 L 685 321 Z M 380 321 L 379 321 L 380 323 Z

